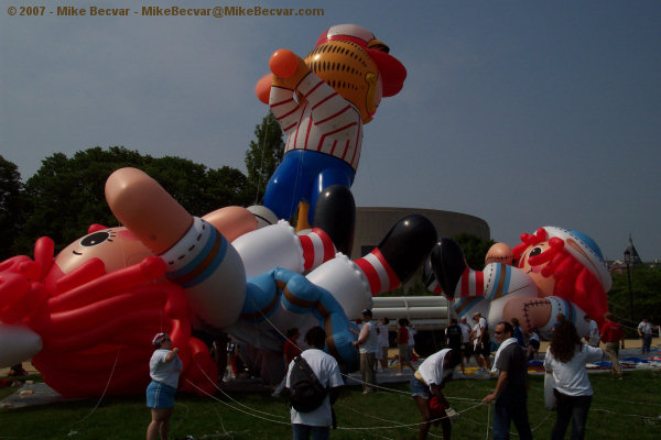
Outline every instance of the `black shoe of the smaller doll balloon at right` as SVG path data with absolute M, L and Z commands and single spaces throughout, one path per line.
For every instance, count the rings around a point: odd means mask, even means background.
M 445 296 L 451 299 L 454 298 L 457 284 L 466 270 L 462 248 L 452 239 L 440 239 L 432 250 L 430 261 L 431 270 L 438 286 L 443 289 Z M 425 278 L 425 285 L 427 285 L 427 288 L 432 285 L 427 283 L 427 278 Z

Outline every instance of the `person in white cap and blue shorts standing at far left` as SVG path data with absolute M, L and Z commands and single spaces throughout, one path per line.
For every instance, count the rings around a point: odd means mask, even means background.
M 147 406 L 151 408 L 152 420 L 147 428 L 147 440 L 166 440 L 182 361 L 177 354 L 178 348 L 172 346 L 167 333 L 158 333 L 152 344 L 155 348 L 149 361 L 152 381 L 147 387 Z

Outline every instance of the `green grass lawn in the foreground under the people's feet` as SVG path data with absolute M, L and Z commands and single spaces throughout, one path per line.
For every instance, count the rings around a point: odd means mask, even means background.
M 587 439 L 659 439 L 661 432 L 661 372 L 631 372 L 625 381 L 608 374 L 593 374 L 595 397 L 587 421 Z M 496 381 L 455 381 L 446 396 L 460 411 L 453 424 L 454 439 L 486 439 L 492 406 L 478 405 Z M 415 439 L 420 415 L 407 389 L 408 384 L 362 395 L 347 388 L 335 410 L 334 439 Z M 0 399 L 15 388 L 0 389 Z M 543 377 L 531 376 L 528 403 L 535 439 L 548 439 L 555 414 L 543 406 Z M 0 439 L 143 439 L 150 421 L 142 397 L 104 398 L 0 409 Z M 394 427 L 393 426 L 400 426 Z M 404 427 L 401 427 L 404 426 Z M 432 428 L 430 438 L 442 438 Z M 199 439 L 290 439 L 289 408 L 268 394 L 217 393 L 212 397 L 178 395 L 172 418 L 171 439 L 191 435 Z M 513 436 L 516 439 L 516 436 Z M 567 432 L 568 438 L 568 432 Z

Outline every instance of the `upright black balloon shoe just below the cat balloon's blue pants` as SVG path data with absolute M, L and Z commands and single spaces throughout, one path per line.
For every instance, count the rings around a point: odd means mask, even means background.
M 351 254 L 356 202 L 351 190 L 344 185 L 332 185 L 319 194 L 314 209 L 313 227 L 326 232 L 337 252 Z

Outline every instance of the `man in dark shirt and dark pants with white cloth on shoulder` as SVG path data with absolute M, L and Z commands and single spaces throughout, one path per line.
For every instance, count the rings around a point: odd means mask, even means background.
M 496 400 L 494 440 L 509 439 L 512 421 L 521 440 L 532 439 L 528 422 L 528 362 L 513 333 L 512 324 L 507 321 L 499 322 L 494 332 L 500 343 L 494 362 L 494 370 L 499 371 L 498 383 L 494 393 L 483 399 L 484 403 Z

